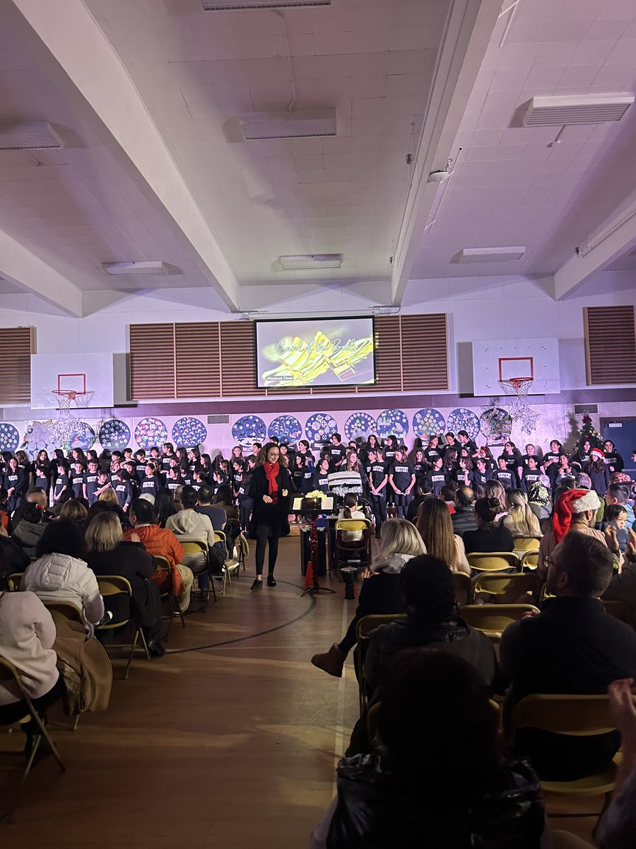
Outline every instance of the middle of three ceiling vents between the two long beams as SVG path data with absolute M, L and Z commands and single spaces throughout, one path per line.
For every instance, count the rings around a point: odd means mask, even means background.
M 335 136 L 336 110 L 248 112 L 228 121 L 226 132 L 232 142 Z

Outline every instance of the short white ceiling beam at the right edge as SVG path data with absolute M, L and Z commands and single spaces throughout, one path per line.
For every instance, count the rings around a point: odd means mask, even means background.
M 572 258 L 555 272 L 555 300 L 561 301 L 634 247 L 636 201 L 591 236 L 586 245 L 572 249 Z

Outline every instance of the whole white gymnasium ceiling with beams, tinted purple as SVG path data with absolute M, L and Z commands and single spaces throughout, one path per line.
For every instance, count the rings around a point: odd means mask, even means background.
M 519 120 L 533 97 L 634 93 L 633 0 L 0 0 L 0 20 L 0 124 L 64 140 L 0 151 L 0 292 L 81 316 L 87 293 L 200 287 L 242 312 L 254 285 L 399 304 L 409 280 L 425 301 L 427 280 L 527 274 L 561 298 L 636 270 L 636 105 L 557 144 L 560 127 Z M 336 137 L 228 141 L 238 113 L 316 109 Z M 521 260 L 457 261 L 508 245 Z M 342 267 L 278 262 L 319 253 Z M 170 273 L 102 268 L 145 260 Z

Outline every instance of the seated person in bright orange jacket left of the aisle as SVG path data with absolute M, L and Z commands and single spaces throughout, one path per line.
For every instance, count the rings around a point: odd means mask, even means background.
M 161 490 L 159 490 L 161 492 Z M 142 543 L 148 554 L 153 557 L 165 557 L 170 563 L 170 574 L 158 569 L 152 579 L 159 587 L 159 593 L 173 593 L 179 602 L 181 610 L 187 610 L 190 605 L 190 593 L 194 576 L 192 570 L 181 563 L 183 548 L 172 531 L 167 531 L 158 524 L 158 516 L 154 505 L 145 498 L 136 498 L 131 503 L 131 527 L 124 531 L 124 539 L 131 542 L 133 534 L 136 542 Z

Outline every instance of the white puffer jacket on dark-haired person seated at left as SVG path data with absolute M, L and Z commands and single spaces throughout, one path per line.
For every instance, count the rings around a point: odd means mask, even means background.
M 27 566 L 20 589 L 36 593 L 42 601 L 70 601 L 93 624 L 103 616 L 98 579 L 84 560 L 69 554 L 43 554 Z

